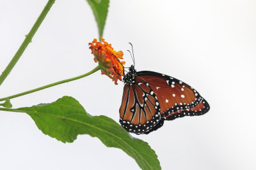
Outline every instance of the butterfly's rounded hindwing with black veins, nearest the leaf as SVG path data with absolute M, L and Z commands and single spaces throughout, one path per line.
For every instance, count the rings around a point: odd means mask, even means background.
M 136 134 L 152 131 L 161 118 L 159 101 L 148 83 L 126 84 L 119 111 L 120 124 Z

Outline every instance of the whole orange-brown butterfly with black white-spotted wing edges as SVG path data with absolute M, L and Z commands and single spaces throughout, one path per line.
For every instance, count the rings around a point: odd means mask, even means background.
M 127 132 L 148 134 L 162 127 L 166 120 L 204 115 L 210 110 L 193 87 L 172 76 L 137 72 L 132 65 L 123 81 L 119 122 Z

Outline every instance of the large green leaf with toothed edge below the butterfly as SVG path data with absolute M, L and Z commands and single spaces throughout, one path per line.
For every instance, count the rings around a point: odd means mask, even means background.
M 161 169 L 157 155 L 148 143 L 132 138 L 111 118 L 92 117 L 73 97 L 64 96 L 53 103 L 12 111 L 28 113 L 44 134 L 63 143 L 74 141 L 78 134 L 89 134 L 108 147 L 122 149 L 136 160 L 141 169 Z

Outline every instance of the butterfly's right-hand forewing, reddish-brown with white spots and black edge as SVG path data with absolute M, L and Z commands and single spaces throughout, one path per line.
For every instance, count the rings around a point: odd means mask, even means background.
M 173 120 L 177 117 L 203 115 L 210 106 L 200 94 L 188 84 L 152 71 L 137 73 L 136 82 L 148 83 L 154 91 L 161 108 L 161 118 Z

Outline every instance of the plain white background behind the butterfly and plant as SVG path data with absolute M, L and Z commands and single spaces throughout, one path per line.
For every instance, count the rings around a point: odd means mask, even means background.
M 0 71 L 19 48 L 46 0 L 0 0 Z M 111 1 L 104 38 L 137 71 L 185 81 L 209 102 L 201 117 L 165 122 L 143 139 L 163 169 L 256 169 L 256 1 Z M 0 88 L 0 97 L 86 73 L 97 66 L 88 43 L 98 31 L 84 0 L 56 1 Z M 118 122 L 123 83 L 100 72 L 12 99 L 14 108 L 75 97 L 91 115 Z M 0 112 L 0 169 L 140 169 L 97 138 L 61 143 L 25 113 Z

